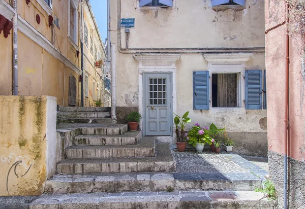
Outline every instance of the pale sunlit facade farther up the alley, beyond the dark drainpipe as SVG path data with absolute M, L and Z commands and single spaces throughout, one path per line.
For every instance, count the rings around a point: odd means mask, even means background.
M 90 14 L 88 5 L 86 2 L 83 3 L 84 8 L 84 22 L 88 28 L 88 45 L 85 43 L 84 46 L 84 71 L 89 79 L 89 94 L 85 97 L 84 103 L 88 107 L 96 107 L 96 100 L 99 98 L 102 102 L 102 107 L 104 106 L 104 74 L 103 65 L 101 67 L 96 67 L 95 62 L 98 61 L 96 54 L 100 54 L 100 59 L 104 60 L 106 55 L 103 50 L 103 43 L 100 40 L 99 34 L 96 30 L 94 20 Z M 90 39 L 93 38 L 93 53 L 90 52 Z M 97 51 L 95 51 L 95 47 Z M 94 83 L 95 82 L 95 89 Z M 99 96 L 97 85 L 99 84 Z M 94 98 L 95 92 L 95 98 Z

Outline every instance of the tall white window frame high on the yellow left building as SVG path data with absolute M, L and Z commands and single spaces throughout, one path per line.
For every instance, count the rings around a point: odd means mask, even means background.
M 75 49 L 78 50 L 78 36 L 77 36 L 77 31 L 78 31 L 78 1 L 77 0 L 69 0 L 69 10 L 68 10 L 68 37 L 69 37 L 69 41 L 70 43 L 74 46 Z M 73 37 L 71 37 L 70 34 L 70 11 L 71 11 L 71 5 L 73 6 L 73 8 L 75 9 L 75 14 L 74 14 L 74 34 Z

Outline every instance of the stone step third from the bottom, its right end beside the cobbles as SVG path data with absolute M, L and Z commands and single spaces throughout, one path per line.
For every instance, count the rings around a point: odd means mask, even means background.
M 175 170 L 176 165 L 169 144 L 156 145 L 156 157 L 65 159 L 57 164 L 59 174 L 170 172 Z

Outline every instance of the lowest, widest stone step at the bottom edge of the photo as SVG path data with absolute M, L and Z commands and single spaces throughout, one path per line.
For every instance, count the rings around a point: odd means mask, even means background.
M 275 202 L 254 191 L 130 192 L 41 195 L 30 209 L 251 208 L 271 209 Z

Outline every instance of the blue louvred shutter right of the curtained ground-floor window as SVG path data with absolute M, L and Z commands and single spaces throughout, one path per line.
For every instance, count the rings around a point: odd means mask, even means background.
M 246 71 L 246 110 L 262 109 L 262 71 Z

